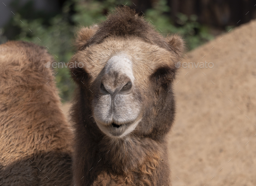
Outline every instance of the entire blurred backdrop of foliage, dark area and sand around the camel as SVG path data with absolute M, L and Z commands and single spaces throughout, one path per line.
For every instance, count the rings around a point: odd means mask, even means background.
M 172 185 L 256 186 L 256 0 L 2 0 L 0 43 L 31 41 L 67 63 L 77 29 L 105 20 L 119 4 L 163 36 L 182 35 L 182 62 L 214 63 L 180 68 L 174 81 Z M 54 70 L 69 117 L 75 85 L 68 69 Z

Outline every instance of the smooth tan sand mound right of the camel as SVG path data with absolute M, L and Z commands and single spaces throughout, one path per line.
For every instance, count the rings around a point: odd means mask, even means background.
M 256 185 L 255 30 L 254 20 L 186 54 L 214 67 L 181 67 L 174 83 L 173 186 Z

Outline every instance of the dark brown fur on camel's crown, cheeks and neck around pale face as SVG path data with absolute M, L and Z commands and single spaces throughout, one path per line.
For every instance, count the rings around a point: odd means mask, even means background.
M 118 12 L 116 15 L 115 13 L 109 15 L 98 28 L 94 26 L 79 32 L 76 41 L 79 51 L 73 61 L 82 62 L 87 58 L 89 63 L 97 68 L 103 68 L 97 66 L 97 60 L 93 61 L 95 54 L 90 51 L 90 47 L 103 43 L 109 38 L 142 39 L 152 46 L 165 49 L 165 54 L 171 56 L 172 61 L 164 65 L 161 60 L 157 60 L 159 64 L 154 64 L 156 67 L 152 66 L 154 72 L 143 77 L 147 78 L 150 85 L 137 85 L 135 92 L 138 100 L 141 101 L 144 118 L 133 131 L 134 134 L 127 134 L 120 140 L 105 136 L 93 118 L 92 100 L 98 94 L 100 87 L 98 76 L 101 72 L 95 77 L 96 73 L 86 68 L 70 69 L 74 81 L 79 85 L 72 107 L 72 121 L 75 126 L 73 184 L 76 186 L 170 186 L 171 170 L 165 138 L 171 129 L 175 112 L 172 82 L 176 68 L 173 62 L 180 59 L 184 43 L 178 36 L 164 39 L 128 7 L 118 8 L 116 12 Z M 180 49 L 177 49 L 176 45 Z M 146 52 L 148 51 L 145 51 L 145 55 Z M 154 52 L 158 54 L 157 49 Z M 99 55 L 103 56 L 103 53 L 104 51 L 98 51 Z M 142 67 L 141 69 L 143 70 Z M 148 69 L 147 71 L 149 72 Z M 144 83 L 143 78 L 138 82 Z

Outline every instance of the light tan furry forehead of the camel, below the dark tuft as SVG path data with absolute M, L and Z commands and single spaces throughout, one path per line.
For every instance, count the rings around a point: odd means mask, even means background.
M 116 65 L 121 72 L 125 69 L 129 72 L 132 70 L 135 79 L 144 79 L 156 68 L 166 65 L 173 67 L 176 62 L 176 57 L 171 52 L 138 37 L 109 37 L 77 54 L 75 60 L 84 64 L 83 68 L 90 74 L 91 82 L 110 66 Z

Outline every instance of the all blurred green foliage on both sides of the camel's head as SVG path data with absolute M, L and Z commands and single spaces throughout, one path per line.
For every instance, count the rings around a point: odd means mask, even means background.
M 126 3 L 127 6 L 131 5 L 127 0 L 69 0 L 62 7 L 61 12 L 46 15 L 43 12 L 36 12 L 32 1 L 24 6 L 17 6 L 17 0 L 14 1 L 15 16 L 4 27 L 4 32 L 0 30 L 0 42 L 3 42 L 3 35 L 6 34 L 9 39 L 47 46 L 56 62 L 66 63 L 74 55 L 72 40 L 79 27 L 90 26 L 105 20 L 106 14 L 116 5 Z M 144 17 L 164 36 L 169 33 L 182 35 L 189 50 L 213 39 L 207 27 L 197 23 L 197 16 L 187 17 L 179 13 L 177 19 L 172 20 L 168 15 L 169 12 L 170 7 L 167 6 L 166 0 L 159 0 L 158 3 L 154 3 L 152 9 L 144 12 Z M 69 71 L 65 68 L 55 70 L 56 73 L 58 72 L 56 83 L 62 101 L 69 101 L 75 87 Z

